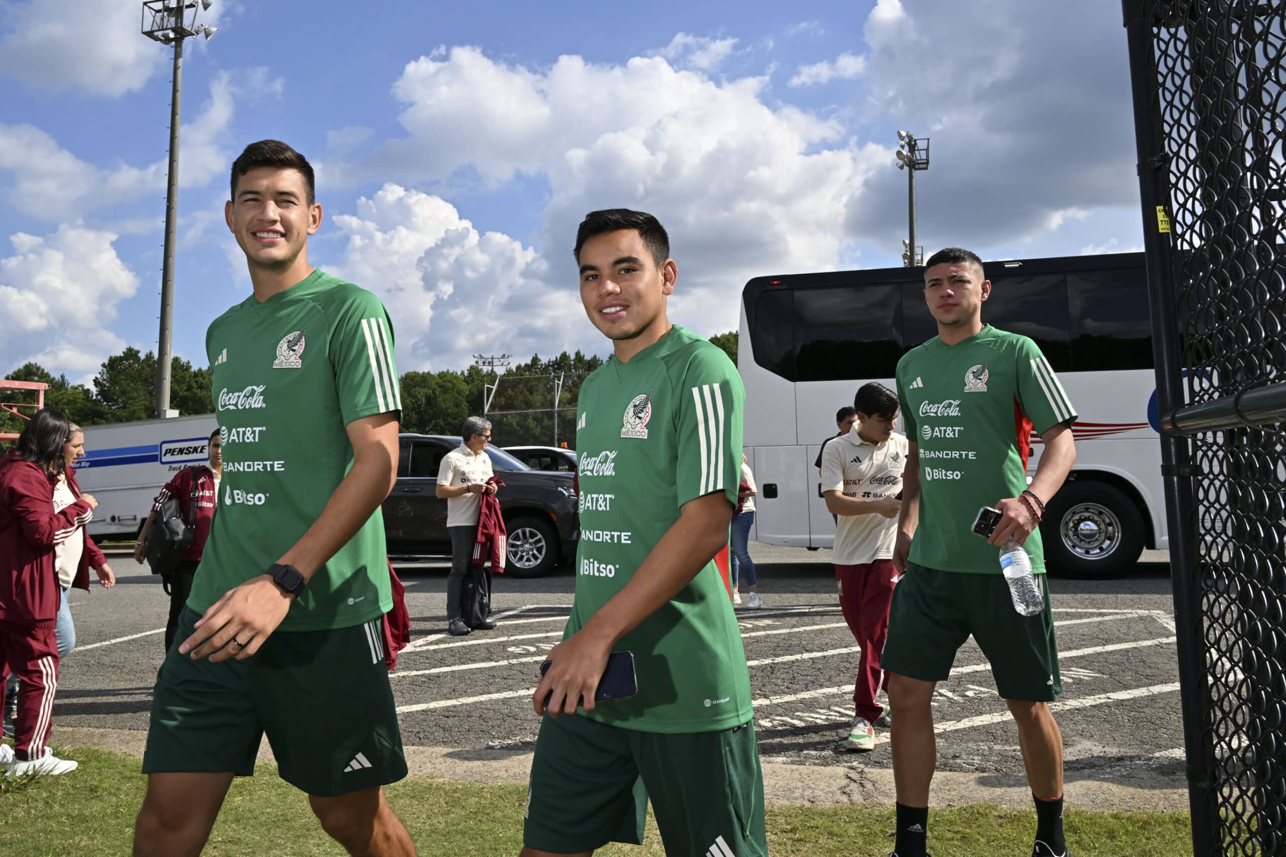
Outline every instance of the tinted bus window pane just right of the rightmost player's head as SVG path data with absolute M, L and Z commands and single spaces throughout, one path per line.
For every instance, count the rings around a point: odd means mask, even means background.
M 1071 317 L 1062 274 L 1002 277 L 992 281 L 983 322 L 1035 340 L 1055 372 L 1071 371 Z

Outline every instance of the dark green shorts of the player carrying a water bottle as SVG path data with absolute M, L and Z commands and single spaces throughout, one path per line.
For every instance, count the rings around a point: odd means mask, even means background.
M 1058 645 L 1046 575 L 1037 575 L 1046 607 L 1020 615 L 1003 574 L 937 571 L 907 565 L 892 591 L 889 638 L 880 667 L 926 682 L 945 681 L 970 634 L 992 664 L 1003 699 L 1052 703 L 1062 692 Z

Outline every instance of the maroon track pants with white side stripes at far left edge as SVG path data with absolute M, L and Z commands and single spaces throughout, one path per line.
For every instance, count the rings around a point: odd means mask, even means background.
M 22 760 L 39 759 L 49 742 L 58 691 L 58 636 L 53 623 L 30 628 L 0 620 L 0 697 L 9 673 L 18 676 L 14 754 Z

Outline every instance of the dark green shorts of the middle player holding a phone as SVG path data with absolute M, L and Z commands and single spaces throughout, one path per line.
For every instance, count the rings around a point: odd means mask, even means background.
M 667 854 L 768 854 L 764 777 L 751 723 L 665 735 L 579 714 L 545 715 L 522 842 L 556 854 L 610 842 L 642 844 L 648 795 Z

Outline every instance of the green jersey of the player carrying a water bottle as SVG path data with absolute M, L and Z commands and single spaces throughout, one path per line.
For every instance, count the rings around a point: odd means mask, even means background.
M 939 571 L 999 574 L 995 547 L 970 531 L 977 510 L 1026 486 L 1031 428 L 1076 409 L 1037 344 L 986 326 L 955 345 L 936 336 L 898 362 L 907 439 L 919 444 L 919 526 L 910 561 Z M 1048 499 L 1048 498 L 1044 498 Z M 1044 571 L 1040 530 L 1024 546 Z

